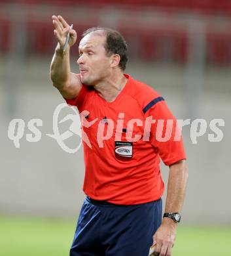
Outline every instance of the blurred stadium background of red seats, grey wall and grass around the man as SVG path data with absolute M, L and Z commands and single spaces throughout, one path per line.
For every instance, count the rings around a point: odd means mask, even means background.
M 173 255 L 231 255 L 230 0 L 0 0 L 0 255 L 68 255 L 84 199 L 82 148 L 68 154 L 46 136 L 63 102 L 49 79 L 52 14 L 73 23 L 79 39 L 92 26 L 119 30 L 126 72 L 161 93 L 178 119 L 207 121 L 197 144 L 183 128 L 190 177 Z M 71 56 L 78 72 L 78 42 Z M 7 136 L 14 118 L 26 123 L 20 148 Z M 43 120 L 39 142 L 26 140 L 32 118 Z M 215 118 L 225 122 L 221 142 L 208 140 Z M 79 138 L 66 142 L 75 148 Z M 162 174 L 167 181 L 168 167 Z

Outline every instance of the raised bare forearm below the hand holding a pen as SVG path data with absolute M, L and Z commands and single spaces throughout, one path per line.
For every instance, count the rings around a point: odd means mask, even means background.
M 69 81 L 71 75 L 69 47 L 63 53 L 57 45 L 50 64 L 50 78 L 55 87 L 62 88 Z

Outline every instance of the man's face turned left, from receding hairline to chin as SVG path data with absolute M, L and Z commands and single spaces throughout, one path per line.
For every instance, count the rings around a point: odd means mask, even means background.
M 105 51 L 105 35 L 90 33 L 79 43 L 80 79 L 84 85 L 97 85 L 110 75 L 111 57 Z

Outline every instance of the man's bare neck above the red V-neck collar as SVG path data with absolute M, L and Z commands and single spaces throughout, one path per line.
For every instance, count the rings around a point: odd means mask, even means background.
M 94 88 L 98 91 L 99 96 L 104 98 L 107 102 L 113 102 L 126 85 L 127 80 L 124 74 L 120 72 L 106 77 L 103 81 L 94 85 Z

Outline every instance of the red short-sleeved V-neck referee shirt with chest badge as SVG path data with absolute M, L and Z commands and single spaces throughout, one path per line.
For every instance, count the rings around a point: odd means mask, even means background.
M 164 98 L 130 75 L 125 76 L 128 81 L 113 102 L 107 102 L 93 87 L 86 85 L 76 98 L 66 101 L 77 106 L 79 112 L 88 110 L 85 121 L 94 121 L 88 128 L 82 125 L 89 139 L 83 142 L 85 194 L 95 200 L 130 205 L 151 202 L 162 196 L 160 158 L 171 165 L 186 157 L 181 136 L 178 141 L 174 140 L 176 119 Z M 124 118 L 120 113 L 124 113 Z M 124 121 L 116 129 L 118 114 L 120 121 Z M 156 122 L 145 126 L 147 117 Z M 158 126 L 159 119 L 162 121 Z M 168 119 L 172 120 L 169 121 L 173 127 L 170 133 L 166 130 Z M 151 127 L 150 137 L 148 126 Z M 135 135 L 140 139 L 133 141 Z M 164 135 L 169 139 L 160 141 Z M 106 139 L 102 140 L 102 136 Z

